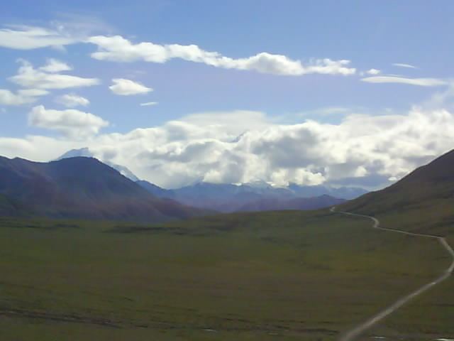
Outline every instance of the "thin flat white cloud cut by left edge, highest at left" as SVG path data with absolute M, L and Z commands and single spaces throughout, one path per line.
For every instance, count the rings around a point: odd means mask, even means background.
M 69 45 L 77 40 L 62 31 L 33 26 L 7 26 L 0 29 L 0 47 L 18 50 Z

